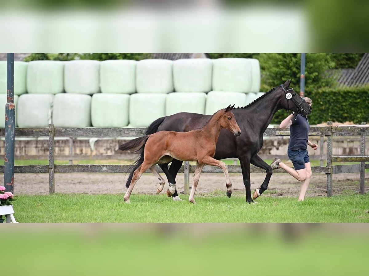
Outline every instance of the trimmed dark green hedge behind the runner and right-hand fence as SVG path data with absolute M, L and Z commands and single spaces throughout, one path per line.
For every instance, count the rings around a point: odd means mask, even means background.
M 369 123 L 369 86 L 321 88 L 305 96 L 313 100 L 313 112 L 308 116 L 310 124 L 327 121 Z M 273 117 L 272 124 L 280 124 L 288 114 L 290 113 L 286 110 L 279 110 Z

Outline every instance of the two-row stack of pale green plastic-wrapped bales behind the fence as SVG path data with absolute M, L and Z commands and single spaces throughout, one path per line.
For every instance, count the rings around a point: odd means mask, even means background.
M 3 114 L 6 64 L 0 61 Z M 179 112 L 211 115 L 230 104 L 246 106 L 259 90 L 256 59 L 14 63 L 18 127 L 147 127 Z

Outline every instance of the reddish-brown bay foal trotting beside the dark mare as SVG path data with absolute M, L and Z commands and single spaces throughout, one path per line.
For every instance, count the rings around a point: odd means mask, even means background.
M 143 163 L 133 173 L 131 183 L 124 195 L 124 201 L 129 203 L 131 192 L 137 180 L 141 175 L 150 169 L 151 172 L 159 178 L 160 186 L 158 193 L 163 190 L 165 181 L 156 171 L 154 165 L 158 163 L 170 162 L 173 158 L 182 161 L 196 161 L 195 175 L 189 201 L 196 204 L 194 196 L 199 183 L 199 178 L 204 165 L 220 167 L 225 175 L 225 181 L 228 192 L 232 191 L 232 183 L 228 175 L 227 165 L 213 158 L 215 154 L 215 145 L 222 128 L 233 132 L 235 136 L 241 134 L 241 129 L 232 113 L 233 106 L 228 106 L 215 112 L 207 121 L 204 127 L 189 132 L 159 131 L 154 134 L 145 135 L 133 139 L 119 146 L 121 151 L 127 151 L 139 148 L 141 156 L 137 160 L 143 159 Z M 127 183 L 128 184 L 128 183 Z M 161 190 L 160 190 L 161 188 Z M 170 184 L 167 191 L 168 197 L 176 190 L 176 184 Z

